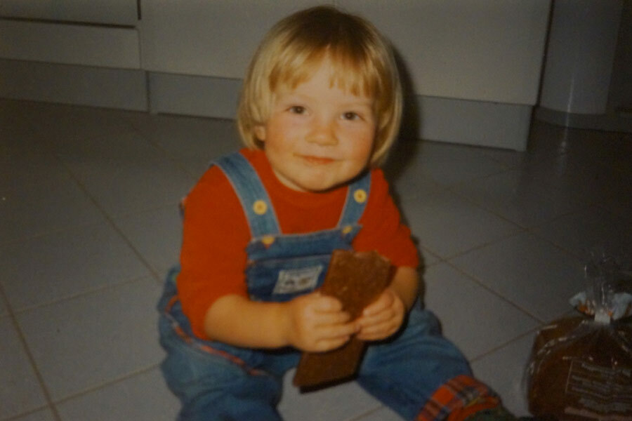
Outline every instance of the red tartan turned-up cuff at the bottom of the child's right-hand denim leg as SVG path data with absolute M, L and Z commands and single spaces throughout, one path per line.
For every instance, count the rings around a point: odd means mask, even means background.
M 463 420 L 480 410 L 495 408 L 500 399 L 492 389 L 468 375 L 459 375 L 430 396 L 416 421 Z

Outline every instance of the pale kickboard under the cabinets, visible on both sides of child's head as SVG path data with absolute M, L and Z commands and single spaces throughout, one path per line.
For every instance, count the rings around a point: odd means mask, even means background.
M 234 119 L 242 81 L 181 74 L 150 74 L 150 109 Z M 407 98 L 406 137 L 524 151 L 532 107 L 413 96 Z

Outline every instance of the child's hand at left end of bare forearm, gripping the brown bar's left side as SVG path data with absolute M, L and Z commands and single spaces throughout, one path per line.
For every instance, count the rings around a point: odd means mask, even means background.
M 357 333 L 358 325 L 349 321 L 342 304 L 318 292 L 301 295 L 287 302 L 286 335 L 290 345 L 309 352 L 336 349 Z

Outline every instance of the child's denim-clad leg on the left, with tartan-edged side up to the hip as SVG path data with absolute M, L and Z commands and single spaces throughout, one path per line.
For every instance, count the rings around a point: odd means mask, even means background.
M 267 355 L 194 338 L 176 298 L 177 276 L 176 267 L 166 278 L 158 323 L 167 353 L 162 372 L 182 402 L 178 420 L 281 420 L 275 407 L 282 376 L 298 354 Z

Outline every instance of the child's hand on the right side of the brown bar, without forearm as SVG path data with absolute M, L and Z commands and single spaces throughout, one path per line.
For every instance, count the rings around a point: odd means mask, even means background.
M 356 322 L 360 325 L 360 340 L 386 339 L 402 326 L 406 307 L 394 290 L 386 288 L 378 299 L 368 305 Z

